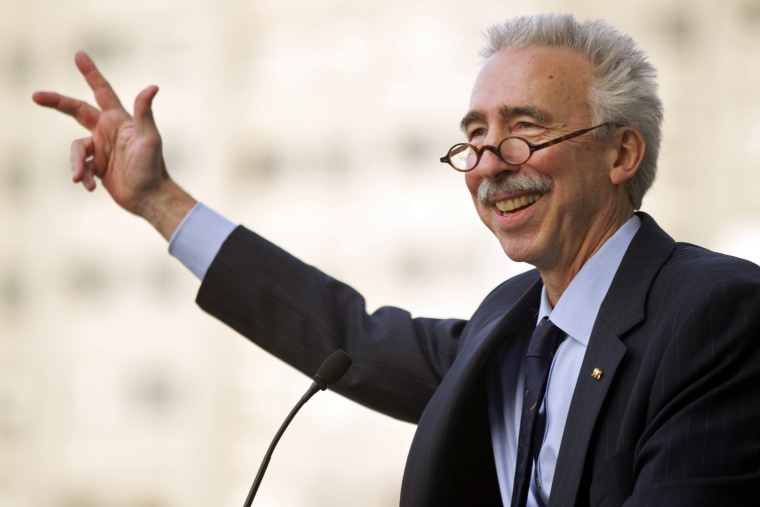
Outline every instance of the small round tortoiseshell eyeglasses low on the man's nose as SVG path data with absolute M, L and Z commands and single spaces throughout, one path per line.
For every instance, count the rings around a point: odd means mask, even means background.
M 601 127 L 607 127 L 609 125 L 611 124 L 602 123 L 594 127 L 576 130 L 575 132 L 570 132 L 569 134 L 565 134 L 564 136 L 551 139 L 541 144 L 533 144 L 522 137 L 508 137 L 500 142 L 498 146 L 486 144 L 481 148 L 469 143 L 459 143 L 452 146 L 445 157 L 441 157 L 441 162 L 449 164 L 457 171 L 472 171 L 475 169 L 475 166 L 478 165 L 478 162 L 480 162 L 480 157 L 482 157 L 483 153 L 487 150 L 499 157 L 506 164 L 522 165 L 538 150 L 543 150 L 549 146 L 554 146 L 555 144 L 567 141 L 568 139 L 582 136 L 587 132 L 591 132 L 592 130 Z

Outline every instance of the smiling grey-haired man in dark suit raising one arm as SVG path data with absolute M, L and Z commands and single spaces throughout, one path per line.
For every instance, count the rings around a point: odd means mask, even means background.
M 760 268 L 634 212 L 657 160 L 654 69 L 601 22 L 534 16 L 490 35 L 467 143 L 442 161 L 466 172 L 505 253 L 536 269 L 468 321 L 369 315 L 350 287 L 196 203 L 165 168 L 156 87 L 132 118 L 80 53 L 100 109 L 34 100 L 91 132 L 72 145 L 74 181 L 101 179 L 171 240 L 202 308 L 306 373 L 345 349 L 354 364 L 335 389 L 418 423 L 402 505 L 753 505 Z M 539 321 L 558 349 L 528 403 Z

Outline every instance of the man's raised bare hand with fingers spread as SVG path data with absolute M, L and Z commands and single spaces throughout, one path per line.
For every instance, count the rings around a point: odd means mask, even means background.
M 89 56 L 79 52 L 75 61 L 100 109 L 54 92 L 32 96 L 37 104 L 71 116 L 90 131 L 89 137 L 71 145 L 72 179 L 92 191 L 99 178 L 117 204 L 171 237 L 195 201 L 166 171 L 151 109 L 158 88 L 149 86 L 137 95 L 133 117 Z

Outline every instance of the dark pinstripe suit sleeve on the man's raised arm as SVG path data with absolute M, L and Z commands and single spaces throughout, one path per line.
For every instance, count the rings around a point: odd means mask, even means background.
M 336 349 L 353 359 L 335 391 L 416 422 L 454 360 L 465 321 L 372 314 L 351 287 L 238 227 L 223 244 L 197 303 L 311 376 Z

